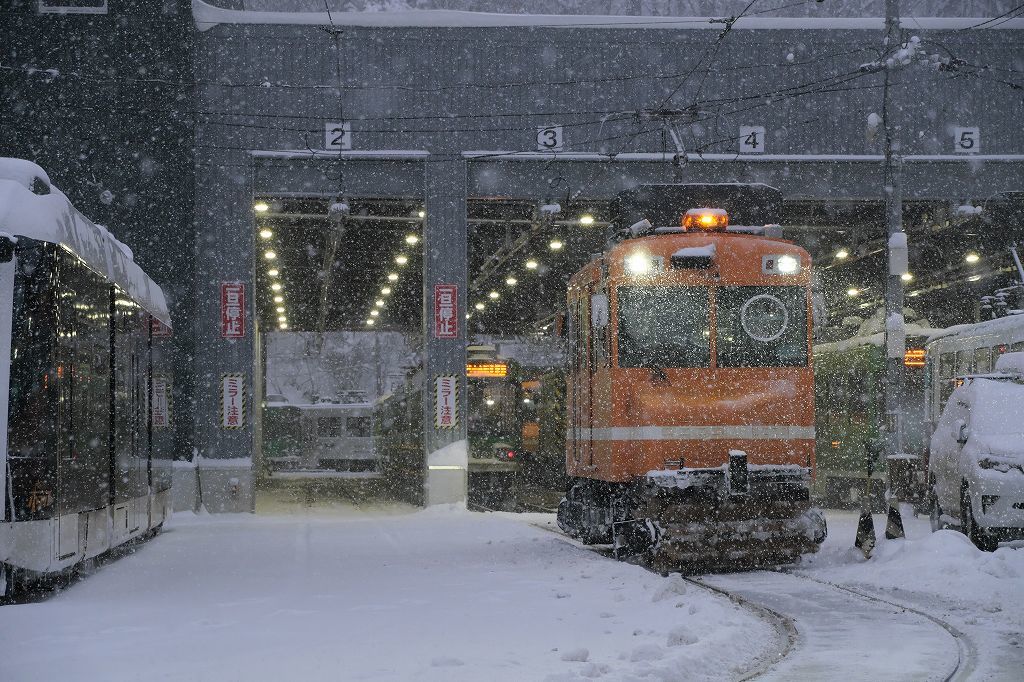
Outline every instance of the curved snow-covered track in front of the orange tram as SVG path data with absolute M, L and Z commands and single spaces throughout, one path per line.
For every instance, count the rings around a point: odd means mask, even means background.
M 548 524 L 531 525 L 615 560 L 609 548 L 583 545 Z M 683 580 L 732 600 L 775 630 L 777 648 L 756 659 L 739 680 L 963 682 L 976 666 L 975 644 L 942 619 L 801 571 L 757 570 Z

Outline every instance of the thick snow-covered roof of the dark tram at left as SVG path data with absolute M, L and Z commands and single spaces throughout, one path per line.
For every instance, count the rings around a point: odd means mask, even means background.
M 46 182 L 49 194 L 32 191 L 35 178 Z M 82 215 L 31 162 L 0 159 L 0 233 L 59 244 L 170 326 L 164 292 L 135 263 L 131 250 Z

